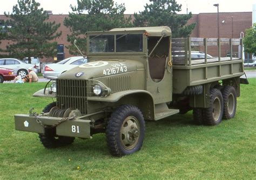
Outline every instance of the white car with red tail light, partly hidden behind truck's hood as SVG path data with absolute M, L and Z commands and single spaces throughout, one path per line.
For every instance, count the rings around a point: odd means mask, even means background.
M 64 73 L 65 71 L 85 63 L 87 63 L 86 57 L 75 56 L 69 57 L 57 63 L 45 64 L 43 68 L 43 76 L 50 80 L 54 80 L 58 77 L 58 75 Z

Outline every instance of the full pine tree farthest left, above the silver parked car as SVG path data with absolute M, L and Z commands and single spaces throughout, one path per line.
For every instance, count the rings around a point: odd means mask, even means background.
M 29 63 L 32 56 L 55 55 L 57 42 L 53 40 L 61 35 L 61 32 L 56 32 L 60 24 L 47 21 L 49 15 L 39 6 L 35 0 L 18 0 L 11 15 L 5 13 L 10 18 L 6 22 L 10 27 L 6 39 L 11 40 L 6 52 L 19 59 L 28 57 Z

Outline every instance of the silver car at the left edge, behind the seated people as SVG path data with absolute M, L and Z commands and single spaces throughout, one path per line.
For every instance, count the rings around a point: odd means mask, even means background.
M 14 58 L 3 58 L 0 59 L 0 67 L 14 69 L 14 73 L 23 78 L 28 74 L 28 69 L 31 67 L 31 64 Z

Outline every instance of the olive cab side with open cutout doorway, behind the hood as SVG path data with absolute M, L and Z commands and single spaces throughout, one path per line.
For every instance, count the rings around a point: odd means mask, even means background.
M 159 37 L 147 41 L 149 52 Z M 170 55 L 170 37 L 163 38 L 147 59 L 147 91 L 151 92 L 154 103 L 166 103 L 172 100 L 172 67 Z

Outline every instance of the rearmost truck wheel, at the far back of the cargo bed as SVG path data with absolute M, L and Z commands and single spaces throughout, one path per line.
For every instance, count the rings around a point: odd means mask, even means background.
M 227 85 L 222 90 L 223 95 L 223 119 L 231 119 L 237 111 L 237 92 L 234 87 Z

